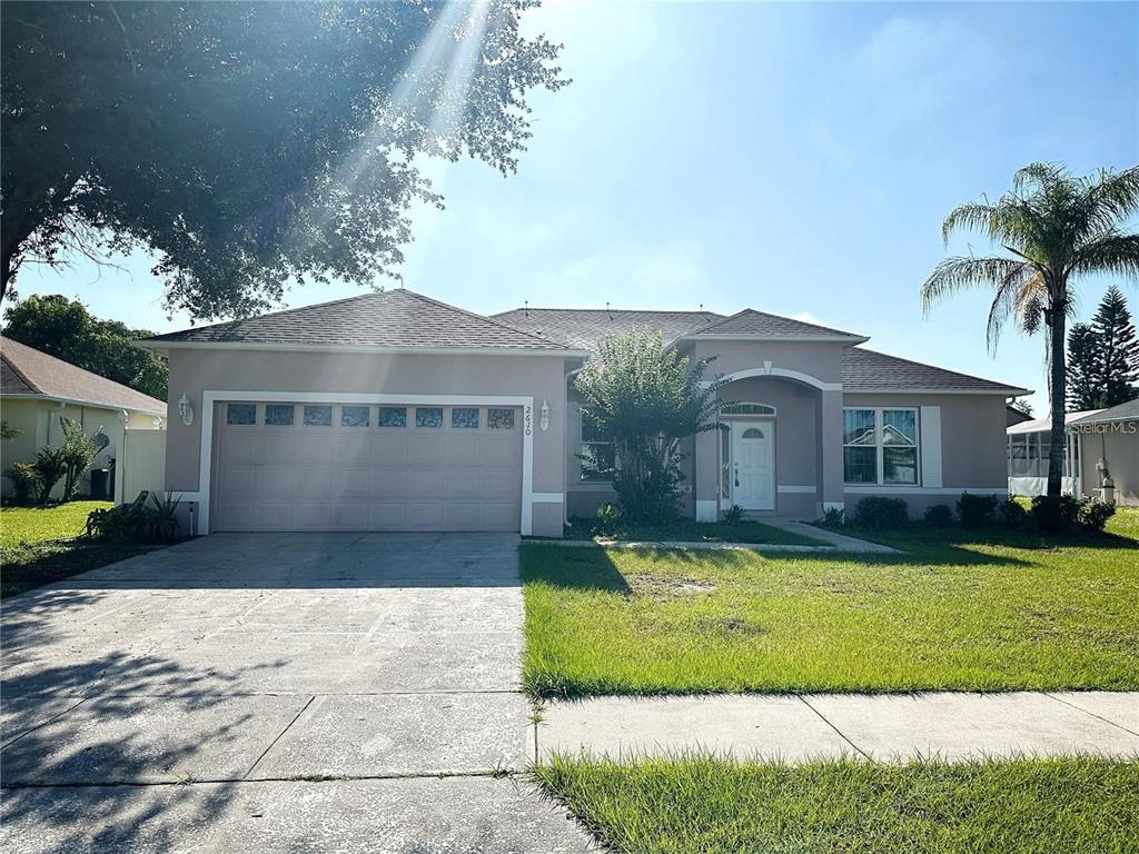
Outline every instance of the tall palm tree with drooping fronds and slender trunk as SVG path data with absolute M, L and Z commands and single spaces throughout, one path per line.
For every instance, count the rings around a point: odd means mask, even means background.
M 1013 176 L 1013 189 L 997 202 L 961 205 L 942 227 L 947 246 L 953 232 L 976 230 L 1008 254 L 945 258 L 921 286 L 926 312 L 959 290 L 991 289 L 986 335 L 991 352 L 1009 319 L 1029 334 L 1047 328 L 1052 418 L 1048 496 L 1054 517 L 1064 465 L 1064 339 L 1074 297 L 1072 280 L 1095 273 L 1139 279 L 1139 233 L 1128 228 L 1137 212 L 1139 166 L 1075 178 L 1062 165 L 1033 163 Z

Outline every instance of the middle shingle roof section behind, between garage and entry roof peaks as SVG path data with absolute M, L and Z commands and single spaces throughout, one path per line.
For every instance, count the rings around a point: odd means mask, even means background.
M 492 315 L 497 320 L 535 335 L 564 340 L 575 347 L 597 352 L 597 345 L 612 335 L 647 328 L 672 340 L 718 320 L 710 311 L 609 311 L 608 309 L 514 309 Z

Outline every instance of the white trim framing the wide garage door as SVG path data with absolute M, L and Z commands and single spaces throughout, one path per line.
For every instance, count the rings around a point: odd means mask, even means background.
M 213 476 L 213 434 L 214 434 L 214 411 L 218 404 L 223 401 L 235 403 L 368 403 L 383 405 L 407 405 L 407 407 L 521 407 L 522 408 L 522 518 L 519 531 L 523 535 L 530 536 L 534 527 L 534 504 L 550 502 L 551 494 L 541 493 L 542 498 L 535 499 L 534 493 L 534 399 L 533 396 L 508 396 L 508 395 L 473 395 L 473 394 L 353 394 L 353 393 L 329 393 L 329 392 L 251 392 L 251 391 L 218 391 L 205 389 L 202 392 L 202 437 L 199 444 L 198 459 L 198 488 L 197 492 L 180 491 L 178 494 L 183 501 L 196 501 L 198 512 L 195 517 L 198 534 L 210 533 L 210 503 Z M 409 419 L 410 420 L 410 419 Z

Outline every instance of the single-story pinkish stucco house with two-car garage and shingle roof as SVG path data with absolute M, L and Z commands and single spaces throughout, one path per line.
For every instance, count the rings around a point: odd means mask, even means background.
M 685 512 L 816 518 L 865 495 L 919 512 L 1003 495 L 1005 404 L 1026 394 L 745 310 L 519 309 L 409 290 L 157 336 L 170 358 L 166 485 L 211 531 L 521 531 L 559 536 L 613 500 L 612 444 L 574 372 L 599 340 L 659 330 L 712 373 L 730 429 L 683 443 Z

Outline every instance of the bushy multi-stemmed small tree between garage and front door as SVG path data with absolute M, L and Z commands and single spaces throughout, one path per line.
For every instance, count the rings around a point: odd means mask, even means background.
M 677 516 L 680 441 L 720 427 L 716 392 L 723 384 L 703 383 L 711 361 L 693 363 L 666 350 L 659 334 L 633 330 L 603 340 L 577 373 L 583 418 L 613 438 L 614 490 L 628 519 L 659 523 Z

